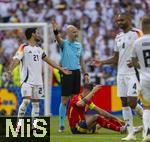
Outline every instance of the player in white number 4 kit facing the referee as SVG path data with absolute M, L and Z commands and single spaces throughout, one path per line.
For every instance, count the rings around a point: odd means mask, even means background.
M 131 55 L 134 41 L 142 35 L 142 32 L 132 27 L 131 17 L 128 13 L 121 13 L 116 18 L 117 25 L 122 29 L 122 32 L 116 36 L 114 48 L 114 55 L 108 60 L 99 61 L 94 59 L 92 64 L 95 66 L 102 66 L 104 64 L 117 64 L 117 86 L 118 96 L 122 102 L 123 118 L 128 124 L 128 136 L 122 138 L 124 141 L 136 140 L 133 129 L 133 115 L 132 109 L 142 113 L 142 108 L 137 105 L 137 88 L 138 80 L 135 69 L 129 68 L 131 66 Z M 142 115 L 142 114 L 141 114 Z

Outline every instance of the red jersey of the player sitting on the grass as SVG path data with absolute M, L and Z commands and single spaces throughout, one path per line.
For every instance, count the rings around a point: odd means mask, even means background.
M 76 103 L 80 101 L 82 97 L 80 95 L 75 95 L 71 98 L 68 105 L 68 120 L 70 128 L 74 128 L 81 120 L 85 120 L 86 106 L 78 107 Z M 88 103 L 89 104 L 89 103 Z

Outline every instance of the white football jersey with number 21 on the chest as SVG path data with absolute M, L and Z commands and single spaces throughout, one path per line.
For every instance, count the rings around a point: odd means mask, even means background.
M 21 83 L 31 85 L 43 85 L 42 79 L 42 58 L 46 55 L 38 46 L 22 44 L 14 59 L 20 60 Z

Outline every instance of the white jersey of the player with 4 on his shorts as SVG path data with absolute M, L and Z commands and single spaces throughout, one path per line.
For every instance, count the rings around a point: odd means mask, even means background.
M 132 28 L 127 33 L 119 33 L 115 38 L 115 52 L 119 52 L 118 60 L 118 74 L 132 74 L 135 73 L 134 68 L 127 66 L 127 61 L 131 60 L 133 43 L 142 36 L 142 32 L 139 29 Z

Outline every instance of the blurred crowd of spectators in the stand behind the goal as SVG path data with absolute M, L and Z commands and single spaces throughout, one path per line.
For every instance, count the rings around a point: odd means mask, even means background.
M 68 24 L 80 29 L 79 40 L 83 43 L 84 59 L 91 80 L 106 85 L 116 84 L 116 67 L 93 68 L 93 57 L 109 58 L 113 54 L 114 38 L 119 32 L 115 25 L 115 15 L 128 11 L 132 22 L 140 28 L 141 17 L 150 11 L 149 0 L 0 0 L 1 23 L 47 22 L 55 20 L 62 36 Z M 52 32 L 51 32 L 52 33 Z M 42 33 L 41 33 L 42 34 Z M 59 48 L 50 38 L 49 53 L 59 63 Z M 22 29 L 0 31 L 0 86 L 18 85 L 19 69 L 14 71 L 12 82 L 5 82 L 4 71 L 18 46 L 25 42 Z M 58 75 L 56 74 L 56 82 Z M 59 84 L 59 83 L 58 83 Z

